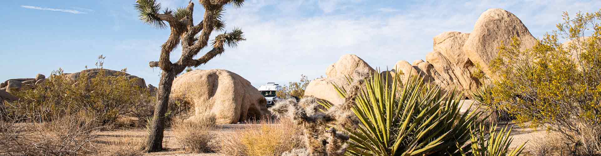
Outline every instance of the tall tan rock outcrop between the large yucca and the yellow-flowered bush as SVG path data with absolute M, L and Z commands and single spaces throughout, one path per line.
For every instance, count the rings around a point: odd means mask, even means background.
M 489 79 L 496 79 L 489 69 L 490 61 L 496 58 L 497 47 L 511 43 L 512 37 L 522 41 L 522 50 L 537 42 L 514 14 L 492 8 L 481 14 L 471 33 L 444 32 L 434 37 L 434 51 L 428 53 L 425 62 L 416 60 L 412 66 L 424 79 L 441 86 L 443 91 L 456 88 L 466 97 L 471 97 L 471 91 L 482 83 L 472 76 L 478 70 L 475 64 L 480 65 L 480 70 Z M 401 64 L 405 70 L 410 68 L 405 63 Z M 397 66 L 400 66 L 398 62 Z

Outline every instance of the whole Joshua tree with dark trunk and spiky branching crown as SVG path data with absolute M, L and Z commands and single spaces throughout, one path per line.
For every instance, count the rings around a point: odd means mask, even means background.
M 165 113 L 171 94 L 171 85 L 177 74 L 182 73 L 186 67 L 198 67 L 206 64 L 209 60 L 221 55 L 224 52 L 224 46 L 235 47 L 239 41 L 245 40 L 242 30 L 234 28 L 231 32 L 219 34 L 212 40 L 213 49 L 198 59 L 193 57 L 209 45 L 209 36 L 213 31 L 223 31 L 225 22 L 221 16 L 225 11 L 225 5 L 231 4 L 234 7 L 242 7 L 244 0 L 199 0 L 204 8 L 204 17 L 198 25 L 194 25 L 192 13 L 194 3 L 188 2 L 188 7 L 169 10 L 164 8 L 162 12 L 160 3 L 156 0 L 138 0 L 134 5 L 138 10 L 140 20 L 156 28 L 166 28 L 169 26 L 171 35 L 160 50 L 159 61 L 151 61 L 150 67 L 159 67 L 162 70 L 157 94 L 157 104 L 154 107 L 154 115 L 151 122 L 150 134 L 145 145 L 148 152 L 162 150 L 163 129 L 165 125 Z M 168 23 L 168 25 L 166 24 Z M 182 46 L 182 56 L 173 63 L 169 61 L 169 54 L 177 47 Z

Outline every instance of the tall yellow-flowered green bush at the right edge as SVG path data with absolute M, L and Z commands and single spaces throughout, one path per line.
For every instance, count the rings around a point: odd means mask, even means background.
M 499 47 L 491 62 L 499 76 L 492 95 L 517 122 L 557 131 L 588 155 L 601 154 L 601 11 L 563 19 L 531 49 L 520 50 L 516 38 Z

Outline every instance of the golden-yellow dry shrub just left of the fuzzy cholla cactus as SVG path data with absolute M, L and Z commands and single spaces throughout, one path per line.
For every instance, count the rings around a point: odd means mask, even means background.
M 261 121 L 252 127 L 236 130 L 221 142 L 219 153 L 224 155 L 282 155 L 286 151 L 302 148 L 300 129 L 288 119 L 279 124 Z

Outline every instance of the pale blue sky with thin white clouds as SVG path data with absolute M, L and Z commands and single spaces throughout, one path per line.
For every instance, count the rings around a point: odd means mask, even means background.
M 0 81 L 66 73 L 94 67 L 121 70 L 157 85 L 157 61 L 167 29 L 142 23 L 135 1 L 1 1 Z M 186 0 L 159 0 L 163 7 L 185 7 Z M 197 3 L 197 2 L 196 2 Z M 197 3 L 198 4 L 198 3 Z M 341 55 L 353 53 L 372 67 L 424 59 L 432 38 L 442 32 L 471 32 L 481 13 L 502 8 L 516 14 L 532 35 L 542 37 L 561 22 L 561 12 L 592 12 L 601 1 L 267 1 L 247 0 L 228 7 L 227 29 L 242 28 L 248 40 L 198 69 L 233 71 L 258 86 L 325 76 Z M 195 8 L 195 20 L 203 11 Z M 206 51 L 203 51 L 206 52 Z M 203 55 L 201 54 L 199 55 Z M 179 49 L 171 54 L 179 58 Z

